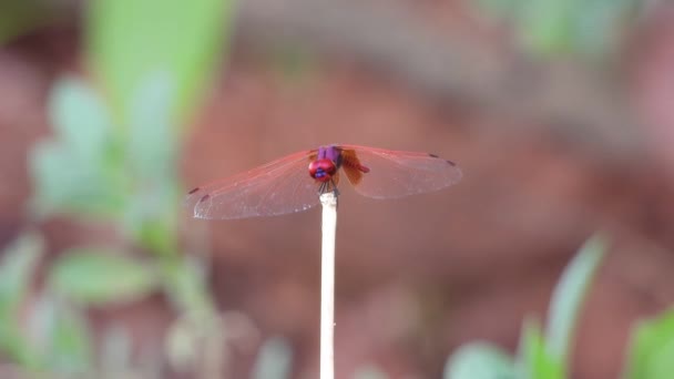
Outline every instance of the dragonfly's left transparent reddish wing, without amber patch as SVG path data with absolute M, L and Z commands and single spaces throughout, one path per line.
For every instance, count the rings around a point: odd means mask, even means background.
M 246 173 L 196 187 L 185 204 L 194 217 L 232 219 L 274 216 L 319 203 L 318 184 L 307 165 L 315 151 L 295 153 Z

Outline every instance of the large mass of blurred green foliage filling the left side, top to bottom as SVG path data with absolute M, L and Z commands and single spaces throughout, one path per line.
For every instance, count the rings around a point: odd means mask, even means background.
M 12 4 L 20 16 L 38 2 Z M 226 50 L 232 10 L 223 0 L 88 2 L 84 35 L 95 82 L 67 76 L 53 85 L 48 111 L 54 133 L 30 152 L 27 209 L 33 222 L 68 217 L 105 225 L 116 243 L 58 252 L 32 291 L 44 249 L 40 235 L 28 233 L 8 247 L 0 264 L 0 351 L 21 368 L 159 377 L 165 359 L 132 359 L 139 341 L 121 325 L 103 331 L 94 349 L 86 309 L 162 291 L 175 311 L 166 351 L 182 344 L 177 355 L 166 356 L 172 368 L 202 377 L 222 372 L 226 326 L 206 285 L 208 263 L 185 254 L 191 252 L 178 238 L 177 163 L 185 116 Z M 182 339 L 172 338 L 173 330 Z M 147 362 L 156 365 L 142 369 Z

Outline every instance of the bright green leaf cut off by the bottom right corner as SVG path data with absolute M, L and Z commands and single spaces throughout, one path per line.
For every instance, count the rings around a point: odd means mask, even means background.
M 632 332 L 625 379 L 670 379 L 674 372 L 674 310 Z

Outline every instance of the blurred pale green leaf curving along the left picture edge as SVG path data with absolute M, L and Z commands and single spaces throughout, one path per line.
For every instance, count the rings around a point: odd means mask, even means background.
M 0 350 L 25 368 L 39 366 L 39 357 L 22 335 L 18 311 L 43 254 L 42 238 L 21 235 L 2 253 L 0 263 Z

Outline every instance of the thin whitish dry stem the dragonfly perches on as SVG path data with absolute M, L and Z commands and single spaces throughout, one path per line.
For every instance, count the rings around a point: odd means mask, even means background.
M 320 258 L 320 379 L 335 378 L 335 234 L 337 195 L 320 195 L 323 245 Z

